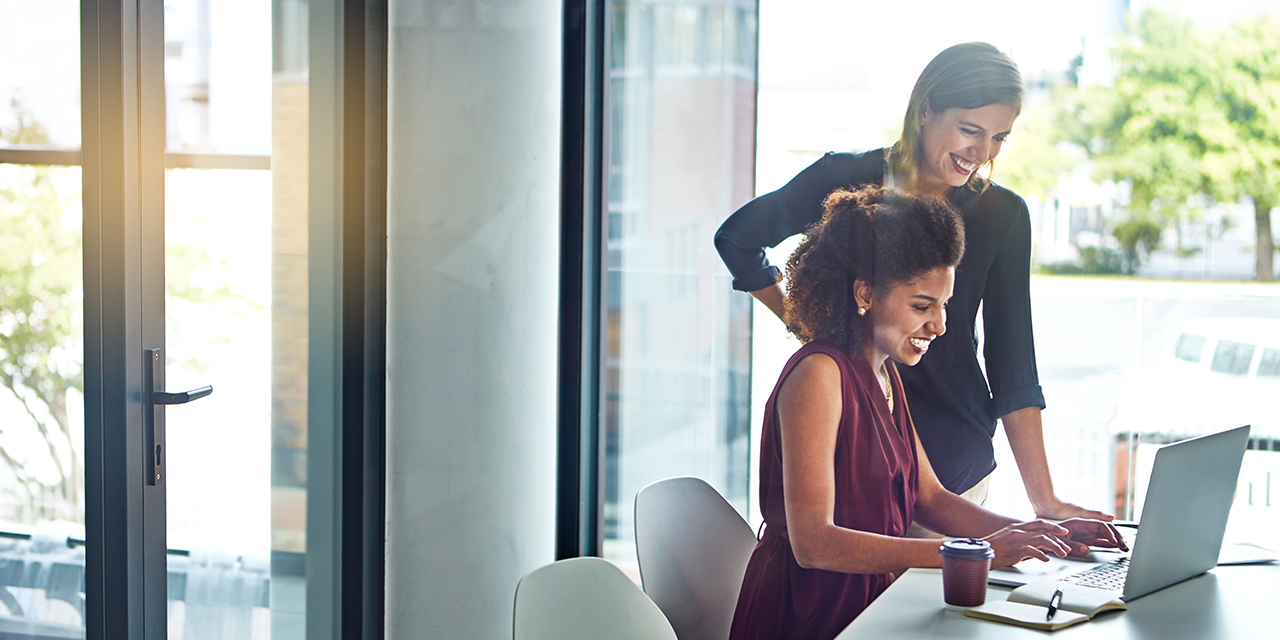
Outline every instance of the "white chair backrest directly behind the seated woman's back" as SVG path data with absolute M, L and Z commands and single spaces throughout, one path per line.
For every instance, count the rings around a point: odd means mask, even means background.
M 680 640 L 724 640 L 755 534 L 698 477 L 668 477 L 636 494 L 640 580 Z

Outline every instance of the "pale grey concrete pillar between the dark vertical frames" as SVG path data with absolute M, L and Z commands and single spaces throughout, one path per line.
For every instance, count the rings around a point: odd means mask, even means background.
M 553 559 L 561 10 L 390 3 L 388 637 L 508 639 Z

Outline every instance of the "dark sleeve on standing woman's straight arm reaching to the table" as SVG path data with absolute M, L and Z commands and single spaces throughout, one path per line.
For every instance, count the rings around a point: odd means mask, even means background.
M 1032 333 L 1032 227 L 1027 202 L 1016 198 L 1009 232 L 987 273 L 982 302 L 983 357 L 997 417 L 1044 408 Z

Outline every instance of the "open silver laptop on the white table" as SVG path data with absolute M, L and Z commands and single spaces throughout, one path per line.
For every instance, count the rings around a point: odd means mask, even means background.
M 1056 558 L 1023 561 L 992 571 L 989 581 L 1016 586 L 1056 579 L 1112 590 L 1128 602 L 1213 568 L 1248 439 L 1249 428 L 1240 426 L 1160 448 L 1132 556 L 1083 567 Z

